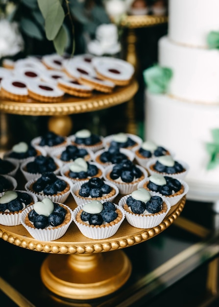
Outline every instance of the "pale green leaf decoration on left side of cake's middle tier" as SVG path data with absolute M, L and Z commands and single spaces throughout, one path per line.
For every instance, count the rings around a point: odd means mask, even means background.
M 143 77 L 150 93 L 162 94 L 168 90 L 169 82 L 172 77 L 172 70 L 167 67 L 154 65 L 143 72 Z

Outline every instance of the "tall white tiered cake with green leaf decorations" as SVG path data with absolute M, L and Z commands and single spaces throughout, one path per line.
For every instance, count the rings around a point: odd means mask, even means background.
M 188 198 L 200 200 L 219 199 L 219 49 L 207 44 L 212 31 L 219 40 L 219 0 L 169 0 L 158 64 L 172 77 L 166 93 L 146 91 L 146 139 L 189 164 Z

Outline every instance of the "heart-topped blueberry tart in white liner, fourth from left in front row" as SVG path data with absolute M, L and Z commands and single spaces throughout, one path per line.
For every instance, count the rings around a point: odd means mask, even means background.
M 170 203 L 163 197 L 139 188 L 119 201 L 125 218 L 133 227 L 146 229 L 158 226 L 170 211 Z

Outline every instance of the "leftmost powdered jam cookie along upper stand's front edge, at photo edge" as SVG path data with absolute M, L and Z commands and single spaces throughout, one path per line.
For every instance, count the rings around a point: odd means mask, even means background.
M 21 77 L 7 77 L 1 81 L 1 95 L 14 101 L 25 101 L 28 98 L 27 82 Z

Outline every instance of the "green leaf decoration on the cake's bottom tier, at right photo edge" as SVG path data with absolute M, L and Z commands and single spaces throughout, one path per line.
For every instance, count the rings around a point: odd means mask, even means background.
M 219 165 L 219 128 L 212 129 L 211 132 L 214 142 L 206 143 L 206 149 L 210 155 L 207 165 L 208 170 L 212 170 Z

